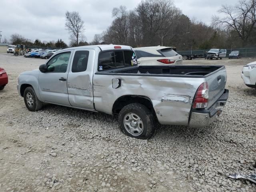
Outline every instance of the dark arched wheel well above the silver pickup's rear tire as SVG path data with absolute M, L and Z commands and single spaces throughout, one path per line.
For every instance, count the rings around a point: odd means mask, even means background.
M 112 107 L 113 114 L 119 114 L 120 110 L 130 103 L 140 103 L 152 111 L 153 114 L 155 114 L 155 110 L 150 98 L 140 95 L 126 95 L 118 98 Z

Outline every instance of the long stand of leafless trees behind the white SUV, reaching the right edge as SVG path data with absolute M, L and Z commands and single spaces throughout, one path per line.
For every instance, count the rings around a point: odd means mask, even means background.
M 218 12 L 224 17 L 212 16 L 208 26 L 182 14 L 172 0 L 144 0 L 134 10 L 113 8 L 112 24 L 96 34 L 94 42 L 176 46 L 177 50 L 255 46 L 256 0 L 223 5 Z

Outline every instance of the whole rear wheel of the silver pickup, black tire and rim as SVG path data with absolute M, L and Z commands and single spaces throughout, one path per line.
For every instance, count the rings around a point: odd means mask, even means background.
M 122 132 L 130 137 L 149 139 L 155 132 L 154 116 L 152 112 L 150 112 L 146 106 L 139 103 L 131 103 L 124 106 L 118 115 L 118 120 Z M 126 125 L 125 122 L 127 122 Z M 136 130 L 131 130 L 131 128 L 133 129 L 135 127 Z M 140 129 L 138 129 L 138 127 L 140 127 Z

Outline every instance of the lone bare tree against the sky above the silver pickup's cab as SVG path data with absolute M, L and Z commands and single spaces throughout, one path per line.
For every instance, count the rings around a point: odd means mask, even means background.
M 84 32 L 84 21 L 78 12 L 66 12 L 66 29 L 70 33 L 71 40 L 74 39 L 76 41 L 76 45 L 78 46 L 78 42 L 81 38 L 82 32 Z

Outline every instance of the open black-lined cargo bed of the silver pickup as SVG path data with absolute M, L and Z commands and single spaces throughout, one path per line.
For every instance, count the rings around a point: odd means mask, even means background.
M 97 74 L 115 73 L 120 75 L 142 75 L 142 76 L 179 76 L 202 78 L 212 72 L 217 72 L 224 66 L 132 66 L 122 69 L 106 70 Z

